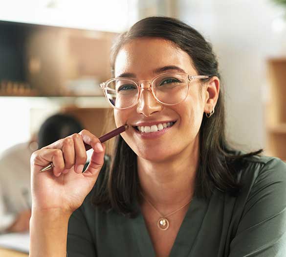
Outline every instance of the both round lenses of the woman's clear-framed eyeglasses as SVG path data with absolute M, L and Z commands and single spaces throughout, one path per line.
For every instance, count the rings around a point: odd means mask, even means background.
M 176 104 L 188 94 L 188 75 L 180 73 L 162 74 L 153 81 L 153 93 L 157 100 L 165 104 Z M 131 107 L 138 98 L 136 83 L 126 78 L 115 78 L 105 89 L 110 103 L 119 109 Z

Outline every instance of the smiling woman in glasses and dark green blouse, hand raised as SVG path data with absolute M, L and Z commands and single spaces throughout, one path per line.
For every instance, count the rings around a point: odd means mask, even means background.
M 150 17 L 120 36 L 111 67 L 101 88 L 130 128 L 103 168 L 86 130 L 33 154 L 30 256 L 65 256 L 66 242 L 68 257 L 284 256 L 286 164 L 227 144 L 210 44 Z

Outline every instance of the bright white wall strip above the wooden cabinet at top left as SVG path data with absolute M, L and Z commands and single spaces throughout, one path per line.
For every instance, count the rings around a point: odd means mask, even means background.
M 0 20 L 121 32 L 137 14 L 136 1 L 0 0 Z

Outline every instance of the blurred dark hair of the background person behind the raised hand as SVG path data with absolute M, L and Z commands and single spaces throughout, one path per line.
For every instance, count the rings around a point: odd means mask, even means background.
M 83 130 L 82 124 L 71 115 L 56 114 L 48 117 L 38 133 L 38 149 L 74 133 L 79 133 L 81 130 Z

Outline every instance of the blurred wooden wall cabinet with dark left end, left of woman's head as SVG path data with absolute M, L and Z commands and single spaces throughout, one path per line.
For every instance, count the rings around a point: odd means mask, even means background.
M 0 21 L 0 95 L 103 95 L 115 32 Z

